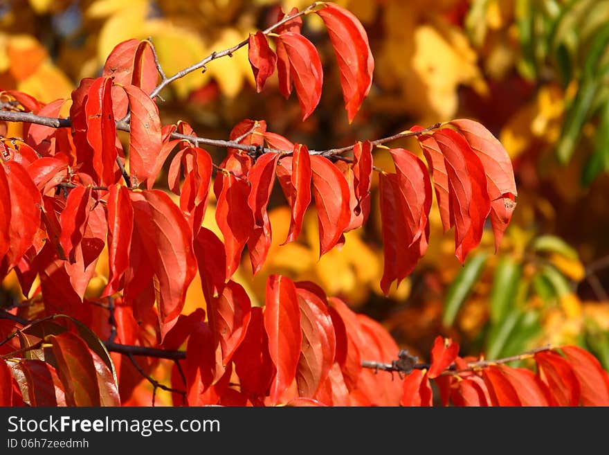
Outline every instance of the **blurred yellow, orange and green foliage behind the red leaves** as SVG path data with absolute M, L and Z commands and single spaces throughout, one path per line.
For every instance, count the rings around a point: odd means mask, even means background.
M 44 102 L 70 98 L 78 80 L 100 74 L 113 46 L 134 37 L 152 38 L 170 75 L 268 26 L 278 3 L 289 11 L 310 2 L 5 1 L 0 88 L 26 91 Z M 372 91 L 352 125 L 329 39 L 316 17 L 305 19 L 304 33 L 318 46 L 325 84 L 320 106 L 307 121 L 300 121 L 295 97 L 280 96 L 275 77 L 255 93 L 242 49 L 165 89 L 163 123 L 187 121 L 200 136 L 226 139 L 242 119 L 264 119 L 270 131 L 291 141 L 331 148 L 414 124 L 475 118 L 513 159 L 518 207 L 500 251 L 494 251 L 489 231 L 464 267 L 453 253 L 453 233 L 442 232 L 434 208 L 428 253 L 385 298 L 379 288 L 378 201 L 365 229 L 348 233 L 343 249 L 318 260 L 313 208 L 298 242 L 280 247 L 289 210 L 275 192 L 269 259 L 254 278 L 247 258 L 238 272 L 254 303 L 264 300 L 266 276 L 282 273 L 314 280 L 345 298 L 421 358 L 440 333 L 456 339 L 462 355 L 482 352 L 489 358 L 575 343 L 609 368 L 609 0 L 336 3 L 361 19 L 376 59 Z M 0 125 L 0 133 L 19 136 L 15 125 Z M 414 141 L 395 145 L 420 153 Z M 217 162 L 225 152 L 209 151 Z M 382 150 L 375 152 L 375 162 L 392 170 Z M 212 205 L 204 224 L 217 231 L 213 220 Z M 98 263 L 91 298 L 107 276 L 104 261 Z M 17 289 L 15 278 L 7 278 L 4 288 Z M 184 311 L 204 305 L 197 279 Z

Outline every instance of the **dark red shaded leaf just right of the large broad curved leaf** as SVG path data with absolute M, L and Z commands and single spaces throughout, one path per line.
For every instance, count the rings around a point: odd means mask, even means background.
M 206 301 L 219 296 L 226 280 L 226 252 L 221 240 L 202 227 L 194 238 L 194 255 L 197 256 L 199 276 Z

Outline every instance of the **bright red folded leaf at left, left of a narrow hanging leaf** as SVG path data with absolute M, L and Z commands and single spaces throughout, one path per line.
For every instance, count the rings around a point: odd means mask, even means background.
M 90 211 L 91 186 L 73 188 L 66 199 L 66 208 L 60 216 L 62 225 L 60 244 L 72 263 L 76 262 L 75 250 L 82 241 L 84 225 L 89 220 Z

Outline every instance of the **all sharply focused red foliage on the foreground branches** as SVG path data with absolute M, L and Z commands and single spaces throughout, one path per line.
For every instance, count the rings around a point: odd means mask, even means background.
M 226 55 L 247 46 L 256 90 L 268 89 L 276 74 L 282 96 L 296 92 L 304 121 L 325 82 L 318 50 L 301 33 L 309 13 L 327 30 L 351 123 L 371 89 L 374 58 L 365 29 L 345 8 L 319 3 L 280 12 L 274 26 Z M 309 150 L 267 130 L 264 120 L 245 119 L 220 144 L 226 155 L 215 164 L 206 138 L 188 123 L 160 118 L 158 87 L 172 80 L 159 71 L 152 42 L 118 44 L 100 77 L 84 78 L 72 92 L 64 123 L 57 118 L 66 100 L 1 92 L 7 114 L 33 116 L 1 117 L 23 123 L 24 136 L 0 139 L 0 278 L 14 271 L 35 302 L 1 310 L 1 405 L 125 404 L 147 379 L 156 391 L 151 375 L 161 359 L 174 361 L 165 389 L 175 406 L 609 404 L 608 373 L 576 346 L 522 353 L 516 360 L 534 366 L 527 369 L 507 366 L 510 359 L 462 358 L 456 343 L 437 337 L 425 364 L 400 356 L 383 325 L 315 283 L 271 274 L 260 307 L 234 280 L 245 251 L 254 275 L 269 254 L 273 188 L 290 211 L 282 242 L 297 241 L 314 207 L 324 256 L 376 207 L 374 172 L 385 294 L 433 242 L 434 199 L 461 263 L 487 222 L 498 249 L 517 190 L 511 159 L 486 127 L 457 118 Z M 127 135 L 125 149 L 119 132 Z M 405 137 L 416 137 L 425 161 L 389 148 L 395 172 L 378 168 L 374 151 Z M 210 200 L 221 238 L 202 226 Z M 91 297 L 101 258 L 109 276 Z M 197 275 L 205 301 L 185 313 Z

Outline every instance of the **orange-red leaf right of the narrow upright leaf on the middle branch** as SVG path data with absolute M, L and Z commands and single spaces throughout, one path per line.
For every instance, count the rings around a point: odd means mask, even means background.
M 311 171 L 321 257 L 334 247 L 349 226 L 349 185 L 343 173 L 327 158 L 311 157 Z

